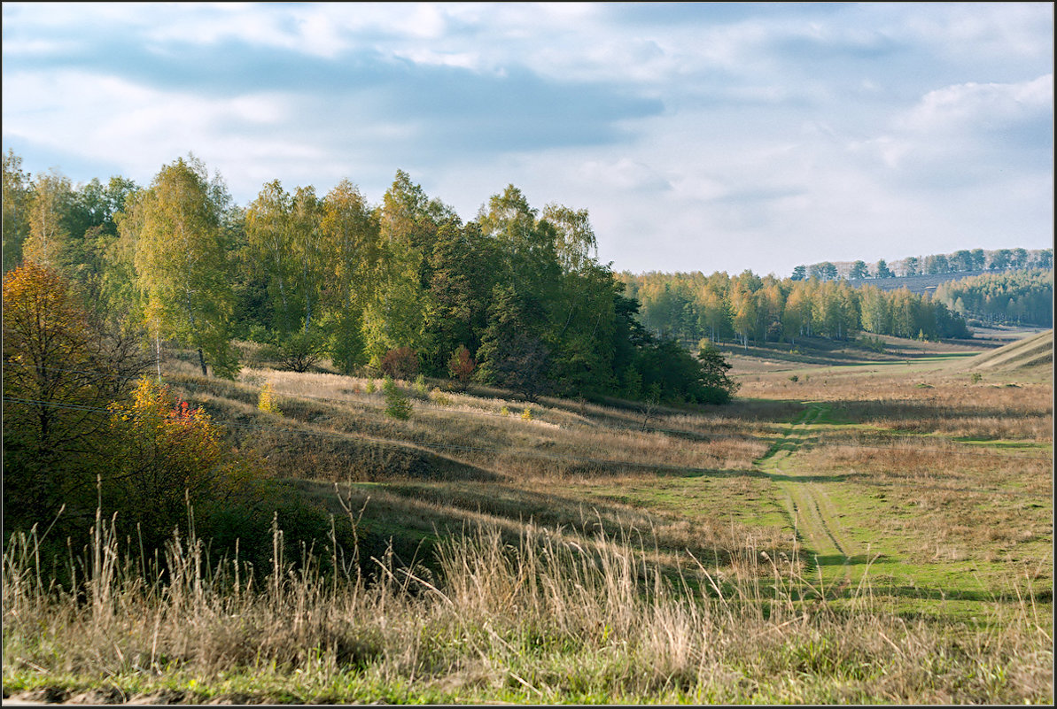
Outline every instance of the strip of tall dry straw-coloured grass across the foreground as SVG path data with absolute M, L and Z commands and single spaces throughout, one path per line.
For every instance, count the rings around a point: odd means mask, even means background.
M 438 572 L 384 555 L 373 579 L 336 545 L 294 564 L 277 524 L 272 536 L 272 567 L 255 575 L 237 557 L 210 559 L 193 534 L 138 558 L 97 519 L 67 587 L 44 580 L 36 531 L 14 536 L 5 693 L 107 677 L 135 698 L 193 677 L 174 698 L 200 702 L 242 676 L 256 701 L 268 677 L 300 702 L 1053 698 L 1053 638 L 1030 589 L 977 627 L 900 618 L 868 582 L 831 605 L 795 558 L 750 546 L 722 572 L 689 556 L 672 572 L 633 529 L 528 524 L 511 542 L 468 527 L 441 543 Z M 317 554 L 337 571 L 323 574 Z

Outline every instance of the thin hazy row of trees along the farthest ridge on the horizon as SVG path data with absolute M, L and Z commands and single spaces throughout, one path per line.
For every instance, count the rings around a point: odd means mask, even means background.
M 984 250 L 982 248 L 959 249 L 953 254 L 932 254 L 929 256 L 910 256 L 889 265 L 884 259 L 868 264 L 865 261 L 853 261 L 850 264 L 834 264 L 830 261 L 800 265 L 793 269 L 793 280 L 802 281 L 808 278 L 818 278 L 823 281 L 847 278 L 860 280 L 865 278 L 896 278 L 900 276 L 935 276 L 972 270 L 1022 270 L 1038 268 L 1047 270 L 1054 265 L 1054 249 L 1041 248 L 999 248 Z

